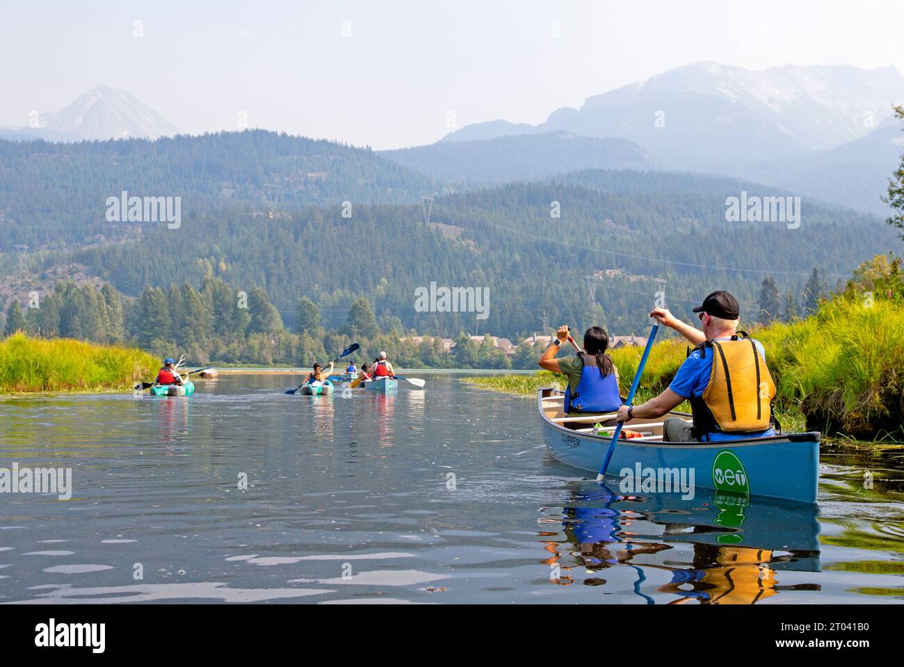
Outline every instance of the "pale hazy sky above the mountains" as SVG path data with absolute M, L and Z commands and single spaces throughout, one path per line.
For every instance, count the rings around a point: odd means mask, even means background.
M 457 127 L 539 123 L 695 61 L 904 71 L 902 25 L 902 0 L 6 3 L 0 125 L 103 83 L 184 132 L 236 129 L 244 111 L 250 127 L 412 146 L 447 134 L 450 111 Z

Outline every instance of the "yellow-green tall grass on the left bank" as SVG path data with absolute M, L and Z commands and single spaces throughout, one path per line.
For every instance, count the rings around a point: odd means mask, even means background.
M 0 341 L 0 393 L 127 390 L 157 366 L 140 350 L 13 334 Z

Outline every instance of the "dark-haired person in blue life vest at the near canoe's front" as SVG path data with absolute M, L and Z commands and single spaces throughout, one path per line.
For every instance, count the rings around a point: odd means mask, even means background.
M 565 390 L 566 414 L 574 412 L 615 412 L 622 404 L 618 395 L 618 370 L 606 350 L 609 337 L 601 326 L 584 332 L 584 349 L 577 356 L 556 359 L 556 352 L 569 338 L 569 327 L 562 325 L 537 362 L 542 369 L 562 373 L 568 378 Z

